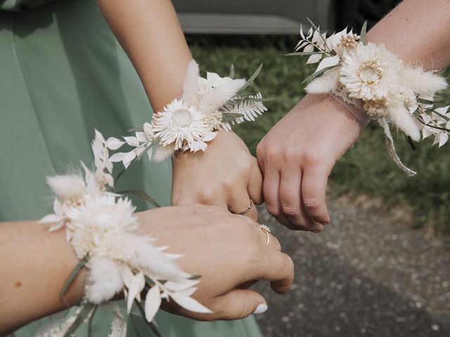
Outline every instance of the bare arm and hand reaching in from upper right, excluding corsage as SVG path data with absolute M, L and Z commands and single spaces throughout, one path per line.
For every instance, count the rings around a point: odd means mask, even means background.
M 411 65 L 440 70 L 450 64 L 450 1 L 404 0 L 378 22 L 367 40 Z M 306 95 L 257 147 L 267 210 L 297 230 L 320 232 L 330 223 L 328 176 L 362 131 L 328 95 Z

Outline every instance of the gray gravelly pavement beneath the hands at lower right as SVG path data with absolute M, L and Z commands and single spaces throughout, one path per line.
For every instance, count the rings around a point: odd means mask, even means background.
M 257 284 L 264 336 L 450 336 L 450 251 L 424 231 L 352 206 L 330 206 L 320 234 L 293 232 L 261 209 L 296 265 L 285 296 Z

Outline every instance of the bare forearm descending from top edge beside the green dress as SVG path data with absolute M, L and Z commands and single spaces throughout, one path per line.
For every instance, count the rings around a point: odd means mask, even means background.
M 106 21 L 141 77 L 155 112 L 182 91 L 191 60 L 169 0 L 98 0 Z

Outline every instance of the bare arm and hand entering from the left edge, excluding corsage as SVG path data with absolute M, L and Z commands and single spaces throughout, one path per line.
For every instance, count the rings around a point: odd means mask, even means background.
M 155 237 L 158 246 L 167 245 L 169 252 L 183 255 L 178 260 L 182 270 L 202 275 L 193 297 L 213 314 L 188 312 L 173 301 L 163 304 L 169 312 L 201 320 L 239 319 L 267 309 L 264 297 L 248 289 L 250 284 L 265 279 L 277 293 L 292 285 L 293 261 L 281 253 L 275 237 L 266 246 L 266 234 L 249 218 L 199 205 L 164 207 L 136 217 L 143 224 L 139 234 Z M 77 263 L 65 230 L 47 232 L 34 221 L 0 223 L 0 336 L 79 303 L 84 269 L 65 300 L 59 297 Z

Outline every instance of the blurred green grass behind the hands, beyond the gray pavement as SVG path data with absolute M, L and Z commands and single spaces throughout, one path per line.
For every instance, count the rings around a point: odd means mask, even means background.
M 231 63 L 236 77 L 249 77 L 264 62 L 264 68 L 252 86 L 264 97 L 269 112 L 255 123 L 236 127 L 255 154 L 259 140 L 304 95 L 302 80 L 311 73 L 304 60 L 284 56 L 295 46 L 295 37 L 188 37 L 191 51 L 203 69 L 229 74 Z M 365 194 L 383 199 L 385 209 L 402 206 L 412 214 L 413 227 L 430 225 L 437 232 L 450 233 L 450 144 L 437 150 L 431 140 L 416 146 L 416 151 L 401 135 L 395 136 L 399 156 L 418 171 L 413 178 L 397 169 L 385 148 L 383 131 L 371 123 L 330 176 L 333 196 Z

